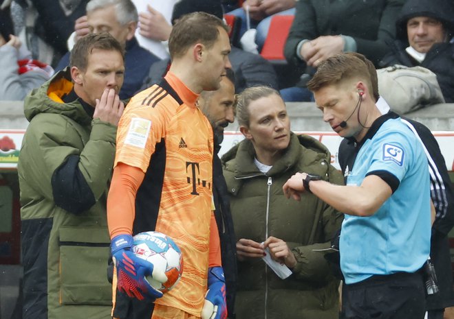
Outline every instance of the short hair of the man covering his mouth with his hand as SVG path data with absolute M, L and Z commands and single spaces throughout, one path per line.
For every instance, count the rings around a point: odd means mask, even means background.
M 109 33 L 87 34 L 80 38 L 71 50 L 69 67 L 77 67 L 81 71 L 87 70 L 88 56 L 94 49 L 106 51 L 118 51 L 123 61 L 125 60 L 125 50 L 122 45 Z

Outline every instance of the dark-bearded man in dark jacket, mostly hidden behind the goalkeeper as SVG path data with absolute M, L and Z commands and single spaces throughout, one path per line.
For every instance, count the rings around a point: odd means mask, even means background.
M 221 87 L 216 91 L 203 91 L 199 98 L 199 108 L 213 126 L 215 153 L 219 153 L 224 139 L 224 128 L 235 119 L 235 74 L 226 70 Z M 213 198 L 215 217 L 221 240 L 221 259 L 226 277 L 226 301 L 228 318 L 235 318 L 235 295 L 237 293 L 237 248 L 233 230 L 230 200 L 227 184 L 222 174 L 221 159 L 213 156 Z

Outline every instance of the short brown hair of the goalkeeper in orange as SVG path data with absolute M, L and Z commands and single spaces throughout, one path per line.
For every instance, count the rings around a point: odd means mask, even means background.
M 213 16 L 213 14 L 193 12 L 182 16 L 173 25 L 169 37 L 171 60 L 184 56 L 186 50 L 196 43 L 202 43 L 208 48 L 213 47 L 219 36 L 218 28 L 228 32 L 228 27 L 224 21 Z

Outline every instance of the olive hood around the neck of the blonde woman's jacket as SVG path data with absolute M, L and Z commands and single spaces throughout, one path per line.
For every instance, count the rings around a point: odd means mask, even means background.
M 254 158 L 254 146 L 248 139 L 244 139 L 222 156 L 222 165 L 226 172 L 233 174 L 237 190 L 241 187 L 241 178 L 263 175 L 255 165 Z M 320 161 L 327 164 L 331 163 L 331 154 L 329 154 L 327 147 L 309 135 L 296 135 L 291 132 L 289 146 L 282 154 L 281 159 L 272 165 L 266 175 L 279 176 L 295 165 L 311 167 L 314 163 Z

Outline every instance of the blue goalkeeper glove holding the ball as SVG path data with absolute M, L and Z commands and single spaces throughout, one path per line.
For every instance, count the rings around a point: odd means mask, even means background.
M 139 300 L 143 300 L 145 297 L 153 298 L 153 300 L 162 297 L 162 292 L 153 288 L 145 276 L 151 275 L 153 279 L 165 283 L 166 274 L 153 271 L 152 263 L 134 255 L 131 251 L 132 244 L 131 235 L 118 235 L 111 240 L 118 290 Z

